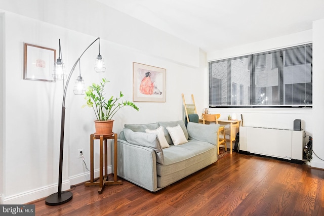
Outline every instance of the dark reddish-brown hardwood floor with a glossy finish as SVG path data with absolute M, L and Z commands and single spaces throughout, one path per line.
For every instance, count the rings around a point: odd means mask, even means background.
M 237 153 L 155 193 L 125 180 L 97 189 L 78 185 L 59 206 L 28 204 L 36 215 L 324 215 L 324 170 Z

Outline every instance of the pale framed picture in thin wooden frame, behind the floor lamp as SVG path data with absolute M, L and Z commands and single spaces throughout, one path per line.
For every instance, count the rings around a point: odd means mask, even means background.
M 56 50 L 24 44 L 24 79 L 55 82 L 55 59 Z

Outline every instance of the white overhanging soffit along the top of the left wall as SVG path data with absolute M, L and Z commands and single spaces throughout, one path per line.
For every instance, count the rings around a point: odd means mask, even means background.
M 198 67 L 199 48 L 93 0 L 2 0 L 1 9 L 181 64 Z M 172 48 L 172 52 L 170 52 Z

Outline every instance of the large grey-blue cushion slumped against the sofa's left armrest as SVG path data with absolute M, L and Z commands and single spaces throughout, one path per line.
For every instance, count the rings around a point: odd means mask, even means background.
M 133 132 L 129 128 L 124 128 L 124 135 L 126 141 L 131 144 L 145 146 L 153 149 L 156 155 L 156 162 L 160 164 L 164 163 L 163 150 L 160 143 L 158 142 L 156 134 Z

